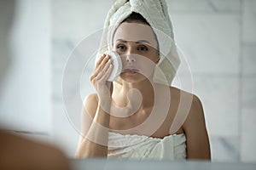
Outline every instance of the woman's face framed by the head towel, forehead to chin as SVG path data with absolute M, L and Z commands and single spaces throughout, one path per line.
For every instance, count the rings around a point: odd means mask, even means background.
M 113 36 L 113 50 L 122 60 L 120 77 L 127 82 L 140 82 L 151 77 L 159 61 L 154 31 L 142 22 L 124 22 Z

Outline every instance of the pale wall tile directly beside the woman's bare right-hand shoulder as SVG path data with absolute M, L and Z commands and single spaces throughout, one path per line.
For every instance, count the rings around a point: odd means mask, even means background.
M 194 93 L 201 98 L 211 138 L 239 136 L 237 77 L 193 76 Z

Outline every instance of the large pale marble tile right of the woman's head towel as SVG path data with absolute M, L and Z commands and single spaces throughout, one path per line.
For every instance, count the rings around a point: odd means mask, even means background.
M 238 14 L 170 15 L 177 45 L 185 54 L 193 74 L 239 72 Z

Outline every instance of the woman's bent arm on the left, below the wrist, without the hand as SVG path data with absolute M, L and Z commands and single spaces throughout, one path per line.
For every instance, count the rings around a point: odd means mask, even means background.
M 97 104 L 96 94 L 90 94 L 84 99 L 81 113 L 81 133 L 76 157 L 107 157 L 108 156 L 108 127 L 110 108 L 104 104 L 104 110 Z

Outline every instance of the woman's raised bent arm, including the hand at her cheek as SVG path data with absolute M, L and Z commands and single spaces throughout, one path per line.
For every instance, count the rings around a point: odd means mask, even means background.
M 84 100 L 82 108 L 82 134 L 79 139 L 77 157 L 108 156 L 108 129 L 113 84 L 107 80 L 112 70 L 110 56 L 102 54 L 96 63 L 95 71 L 90 76 L 90 82 L 96 89 L 96 94 L 89 95 Z

